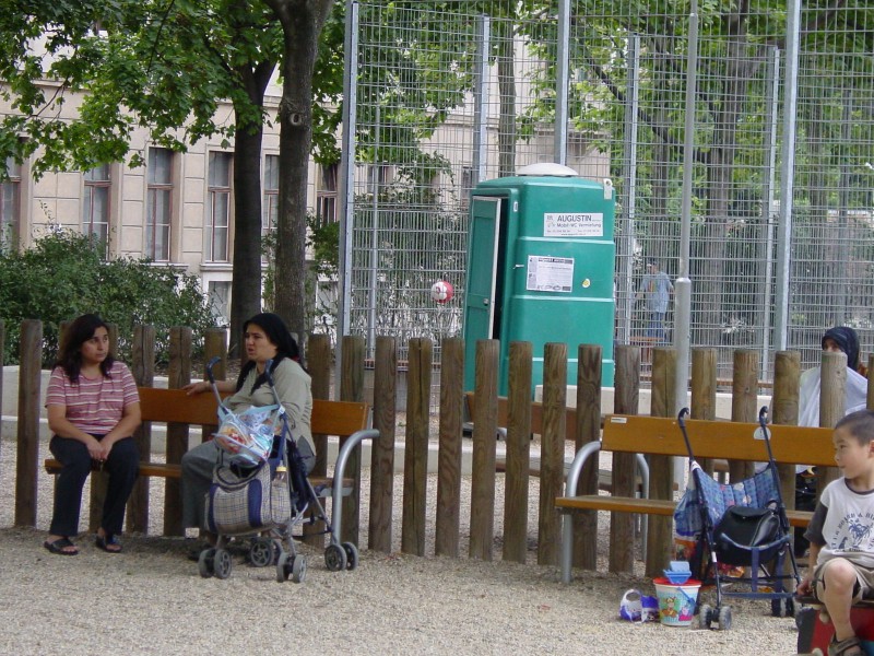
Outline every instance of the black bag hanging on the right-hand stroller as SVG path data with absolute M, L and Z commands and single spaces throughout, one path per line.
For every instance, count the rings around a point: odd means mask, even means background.
M 757 563 L 771 560 L 786 544 L 780 537 L 780 517 L 773 506 L 734 505 L 713 529 L 713 546 L 723 563 L 752 565 L 754 552 Z

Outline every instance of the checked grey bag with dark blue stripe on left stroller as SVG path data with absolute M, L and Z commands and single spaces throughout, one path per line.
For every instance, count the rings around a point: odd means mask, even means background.
M 247 475 L 236 467 L 215 468 L 206 493 L 210 531 L 233 535 L 269 529 L 287 522 L 291 514 L 288 480 L 276 477 L 269 462 Z

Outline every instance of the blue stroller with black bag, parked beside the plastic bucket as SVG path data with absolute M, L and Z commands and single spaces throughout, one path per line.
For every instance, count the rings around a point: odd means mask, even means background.
M 759 411 L 760 429 L 756 431 L 767 446 L 768 465 L 755 476 L 731 483 L 717 482 L 695 461 L 687 414 L 688 408 L 681 410 L 677 423 L 689 454 L 689 484 L 674 518 L 678 527 L 697 536 L 689 565 L 705 585 L 714 585 L 717 597 L 716 607 L 698 607 L 699 625 L 709 629 L 717 622 L 720 630 L 731 628 L 731 607 L 722 605 L 723 596 L 770 599 L 773 616 L 794 614 L 794 593 L 787 590 L 784 583 L 793 578 L 798 586 L 800 578 L 766 425 L 768 409 Z M 783 574 L 787 555 L 791 574 Z M 748 567 L 749 575 L 727 577 L 727 565 Z

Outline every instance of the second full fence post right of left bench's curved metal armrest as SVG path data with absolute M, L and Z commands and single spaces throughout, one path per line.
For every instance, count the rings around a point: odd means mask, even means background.
M 428 423 L 434 344 L 429 339 L 410 340 L 406 377 L 406 434 L 403 454 L 403 514 L 401 551 L 425 555 L 425 520 L 428 488 Z

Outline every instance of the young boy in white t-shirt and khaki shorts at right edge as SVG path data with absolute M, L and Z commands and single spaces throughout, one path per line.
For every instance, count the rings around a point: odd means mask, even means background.
M 810 566 L 798 593 L 825 605 L 835 626 L 829 656 L 864 656 L 850 607 L 874 598 L 874 411 L 848 414 L 831 440 L 842 476 L 823 490 L 805 532 Z

